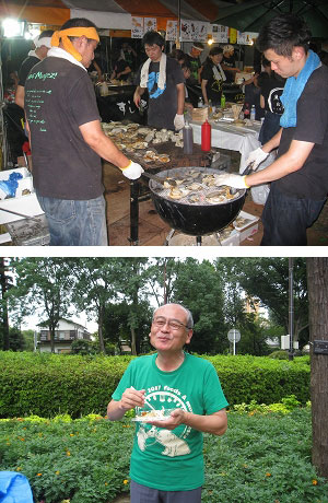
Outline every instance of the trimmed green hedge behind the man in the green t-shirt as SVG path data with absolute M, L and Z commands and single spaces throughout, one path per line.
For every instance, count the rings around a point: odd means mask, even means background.
M 295 395 L 309 399 L 309 359 L 202 356 L 211 361 L 231 405 L 274 403 Z M 79 418 L 106 412 L 131 356 L 81 356 L 0 352 L 0 417 Z

